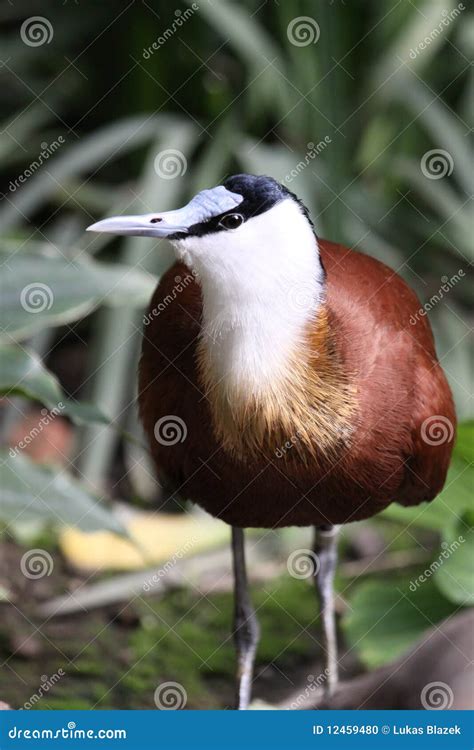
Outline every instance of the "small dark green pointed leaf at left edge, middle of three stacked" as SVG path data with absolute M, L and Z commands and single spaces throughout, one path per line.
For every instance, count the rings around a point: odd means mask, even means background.
M 35 352 L 14 344 L 0 344 L 0 360 L 1 396 L 24 396 L 40 401 L 48 409 L 76 422 L 109 424 L 110 420 L 93 404 L 67 399 L 53 373 L 44 367 Z

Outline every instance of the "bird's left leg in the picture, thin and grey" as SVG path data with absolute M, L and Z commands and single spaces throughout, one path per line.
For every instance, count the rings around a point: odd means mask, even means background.
M 253 664 L 260 628 L 250 600 L 245 569 L 243 529 L 232 527 L 234 566 L 234 642 L 237 650 L 236 708 L 248 708 L 252 688 Z

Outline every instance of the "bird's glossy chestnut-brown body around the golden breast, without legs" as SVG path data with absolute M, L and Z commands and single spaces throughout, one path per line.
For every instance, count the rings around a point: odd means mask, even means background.
M 158 476 L 234 526 L 347 523 L 393 501 L 432 500 L 445 481 L 454 406 L 419 300 L 379 261 L 324 240 L 319 247 L 328 335 L 356 404 L 350 434 L 331 455 L 302 456 L 294 435 L 273 451 L 239 457 L 226 450 L 198 372 L 198 283 L 185 282 L 176 293 L 176 277 L 191 274 L 177 263 L 151 301 L 139 406 Z M 155 425 L 170 416 L 182 420 L 186 434 L 160 442 Z

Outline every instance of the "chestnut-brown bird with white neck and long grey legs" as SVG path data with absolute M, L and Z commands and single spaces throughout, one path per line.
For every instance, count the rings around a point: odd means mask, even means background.
M 175 262 L 144 320 L 139 412 L 160 484 L 231 527 L 236 703 L 260 638 L 245 529 L 310 526 L 326 658 L 338 681 L 338 531 L 441 491 L 452 394 L 415 292 L 374 257 L 319 237 L 265 175 L 94 232 L 166 238 Z

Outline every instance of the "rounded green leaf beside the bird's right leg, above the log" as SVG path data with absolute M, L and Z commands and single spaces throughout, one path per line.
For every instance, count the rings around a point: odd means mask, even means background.
M 410 590 L 416 583 L 395 579 L 361 584 L 349 599 L 349 614 L 343 630 L 351 648 L 370 669 L 393 661 L 433 623 L 456 609 L 440 595 L 432 579 Z

